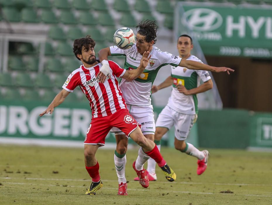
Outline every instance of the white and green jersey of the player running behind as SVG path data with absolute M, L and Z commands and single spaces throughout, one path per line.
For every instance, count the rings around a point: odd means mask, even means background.
M 191 55 L 186 60 L 201 62 L 200 59 Z M 185 67 L 173 67 L 171 71 L 173 77 L 173 89 L 171 96 L 168 100 L 168 106 L 177 112 L 181 112 L 188 115 L 194 115 L 198 113 L 198 101 L 197 95 L 184 95 L 180 93 L 176 86 L 182 84 L 187 90 L 198 87 L 199 77 L 206 82 L 211 79 L 208 71 L 202 70 L 190 70 Z

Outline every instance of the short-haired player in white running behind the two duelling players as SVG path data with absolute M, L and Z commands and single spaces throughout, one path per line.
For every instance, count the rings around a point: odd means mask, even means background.
M 201 62 L 197 57 L 191 55 L 193 49 L 192 38 L 189 35 L 180 35 L 177 49 L 182 59 Z M 188 70 L 186 67 L 172 67 L 171 76 L 166 78 L 159 86 L 152 86 L 152 93 L 173 85 L 168 104 L 163 108 L 156 121 L 155 140 L 160 149 L 161 138 L 166 132 L 175 127 L 175 149 L 194 156 L 198 159 L 197 174 L 202 174 L 207 167 L 209 152 L 199 151 L 194 145 L 186 143 L 185 140 L 190 129 L 197 120 L 198 101 L 197 93 L 203 93 L 213 88 L 213 82 L 208 71 Z M 198 86 L 199 77 L 204 82 Z M 173 137 L 173 136 L 169 136 Z M 157 180 L 155 173 L 156 162 L 148 160 L 147 176 L 150 181 Z M 137 179 L 135 179 L 137 180 Z

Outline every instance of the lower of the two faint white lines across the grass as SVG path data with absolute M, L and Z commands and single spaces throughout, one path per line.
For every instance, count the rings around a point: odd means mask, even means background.
M 104 180 L 106 181 L 106 180 Z M 77 188 L 84 188 L 83 186 L 63 186 L 63 185 L 53 185 L 53 184 L 28 184 L 28 183 L 15 183 L 15 182 L 3 182 L 4 184 L 21 184 L 21 185 L 38 185 L 38 186 L 49 186 L 49 187 L 77 187 Z M 86 186 L 85 186 L 86 188 Z M 106 188 L 106 187 L 103 187 L 103 189 L 116 189 L 117 188 Z M 128 189 L 128 190 L 132 190 L 132 191 L 148 191 L 148 189 Z M 182 193 L 182 194 L 227 194 L 227 193 L 210 193 L 210 192 L 180 192 L 180 191 L 170 191 L 170 190 L 155 190 L 157 192 L 163 192 L 163 191 L 166 191 L 166 192 L 171 192 L 171 193 Z M 239 195 L 239 196 L 252 196 L 252 197 L 272 197 L 271 196 L 267 196 L 267 195 L 255 195 L 255 194 L 235 194 L 235 195 Z

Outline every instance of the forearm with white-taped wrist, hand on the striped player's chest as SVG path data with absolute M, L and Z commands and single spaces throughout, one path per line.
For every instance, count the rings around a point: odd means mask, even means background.
M 102 66 L 101 66 L 100 71 L 97 74 L 97 76 L 99 76 L 98 81 L 101 83 L 105 82 L 107 76 L 109 76 L 109 78 L 111 78 L 111 76 L 109 75 L 110 74 L 110 65 L 108 62 L 108 56 L 111 56 L 111 50 L 109 47 L 102 48 L 98 52 L 98 58 L 102 64 Z

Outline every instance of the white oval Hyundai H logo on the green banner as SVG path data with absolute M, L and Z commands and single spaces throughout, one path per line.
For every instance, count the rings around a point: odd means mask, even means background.
M 221 26 L 222 16 L 208 8 L 194 8 L 185 12 L 189 26 L 195 31 L 211 31 Z

